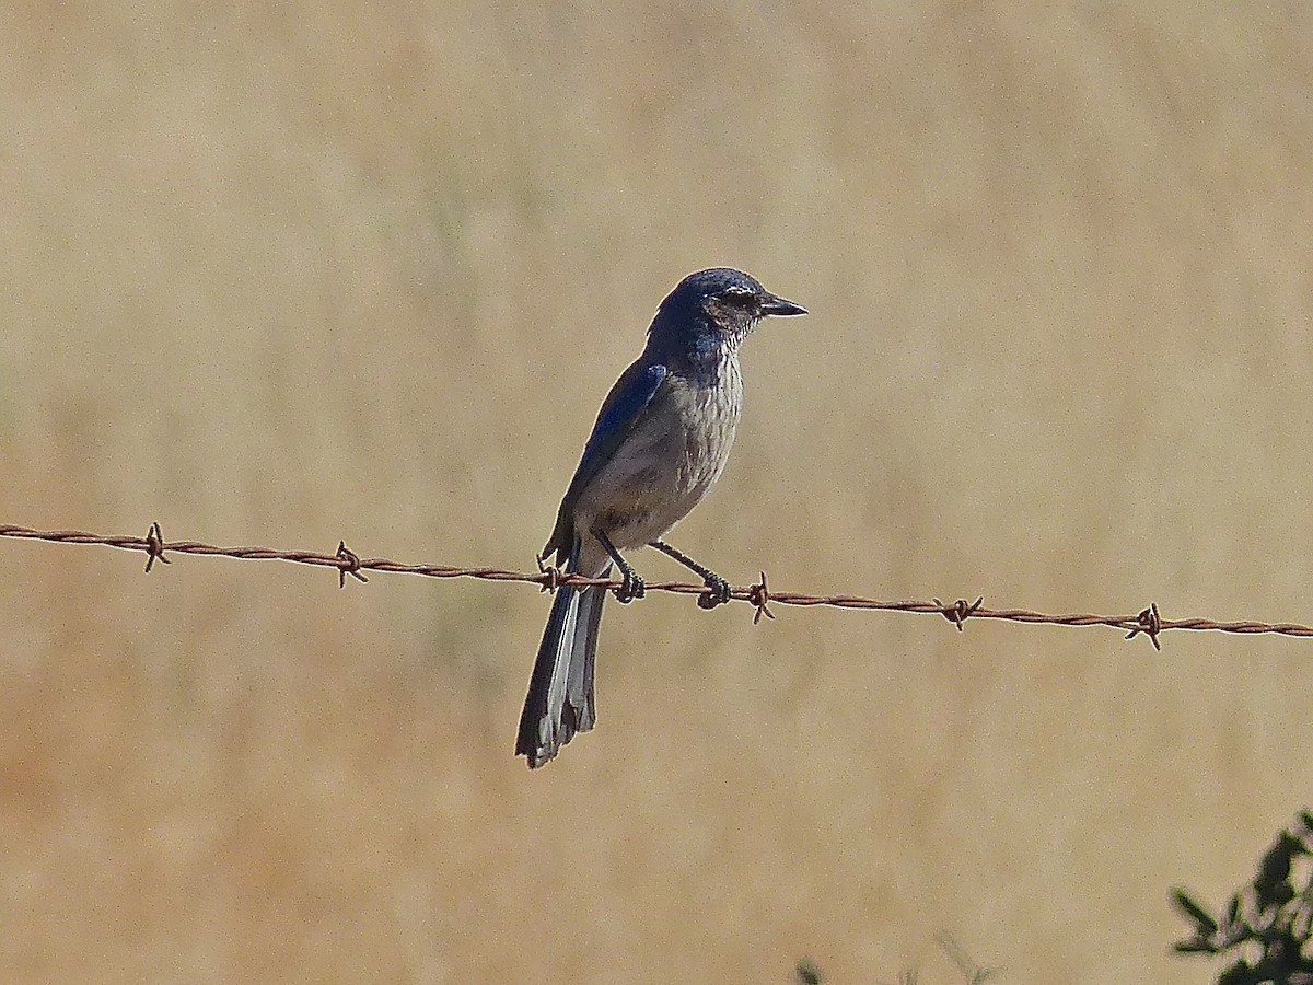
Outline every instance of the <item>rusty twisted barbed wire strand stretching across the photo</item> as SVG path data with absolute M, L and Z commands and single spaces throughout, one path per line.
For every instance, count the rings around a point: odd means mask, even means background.
M 323 554 L 314 550 L 278 550 L 276 548 L 221 548 L 213 544 L 202 544 L 194 540 L 165 541 L 164 533 L 158 523 L 152 523 L 144 537 L 108 536 L 102 533 L 88 533 L 87 531 L 38 531 L 30 527 L 0 525 L 0 537 L 17 540 L 35 540 L 51 544 L 98 544 L 106 548 L 121 550 L 137 550 L 146 554 L 146 571 L 151 571 L 155 562 L 172 563 L 167 553 L 171 554 L 197 554 L 201 557 L 226 557 L 238 561 L 288 561 L 295 565 L 310 565 L 312 567 L 332 567 L 337 571 L 337 583 L 345 587 L 347 578 L 368 582 L 365 571 L 385 571 L 387 574 L 423 575 L 425 578 L 477 578 L 487 582 L 520 582 L 537 584 L 540 591 L 555 591 L 563 584 L 574 586 L 603 586 L 618 588 L 621 582 L 605 578 L 587 578 L 578 574 L 567 574 L 558 567 L 544 565 L 538 559 L 538 571 L 509 571 L 500 567 L 456 567 L 450 565 L 407 565 L 387 558 L 362 558 L 347 548 L 345 541 L 337 544 L 337 550 L 332 554 Z M 674 592 L 676 595 L 706 595 L 705 584 L 689 584 L 685 582 L 653 582 L 647 584 L 647 591 Z M 944 603 L 939 599 L 930 602 L 886 602 L 881 599 L 868 599 L 861 595 L 806 595 L 802 592 L 775 591 L 767 586 L 765 573 L 762 580 L 755 584 L 730 588 L 730 598 L 746 602 L 754 607 L 752 623 L 760 623 L 762 617 L 775 619 L 771 612 L 772 604 L 779 605 L 827 605 L 840 609 L 874 609 L 882 612 L 916 612 L 943 616 L 957 626 L 958 632 L 968 619 L 995 619 L 1007 623 L 1031 623 L 1054 626 L 1109 626 L 1124 632 L 1127 640 L 1144 634 L 1149 637 L 1155 650 L 1162 645 L 1158 637 L 1173 629 L 1212 630 L 1218 633 L 1258 634 L 1270 633 L 1275 636 L 1313 638 L 1313 628 L 1299 623 L 1260 623 L 1257 620 L 1217 621 L 1212 619 L 1162 619 L 1158 613 L 1157 603 L 1149 603 L 1144 609 L 1133 616 L 1100 616 L 1091 612 L 1073 612 L 1064 615 L 1050 615 L 1046 612 L 1033 612 L 1031 609 L 991 609 L 985 608 L 985 599 L 976 602 L 957 599 Z

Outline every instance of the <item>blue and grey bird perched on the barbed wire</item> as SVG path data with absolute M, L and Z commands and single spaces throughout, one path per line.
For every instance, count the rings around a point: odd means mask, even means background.
M 662 537 L 706 495 L 734 443 L 743 402 L 738 351 L 769 315 L 806 309 L 742 271 L 714 267 L 684 277 L 660 302 L 642 355 L 603 401 L 574 478 L 561 499 L 540 566 L 609 579 L 622 603 L 643 579 L 622 550 L 651 546 L 696 573 L 702 608 L 730 599 L 723 578 Z M 608 588 L 558 586 L 520 714 L 516 755 L 530 770 L 596 722 L 593 662 Z

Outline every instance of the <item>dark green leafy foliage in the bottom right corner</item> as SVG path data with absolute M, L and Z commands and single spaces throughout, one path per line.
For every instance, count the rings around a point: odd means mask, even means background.
M 1301 810 L 1293 830 L 1278 833 L 1225 913 L 1213 917 L 1183 889 L 1173 889 L 1171 901 L 1194 925 L 1175 951 L 1229 960 L 1217 985 L 1313 985 L 1313 956 L 1305 955 L 1313 935 L 1313 813 Z

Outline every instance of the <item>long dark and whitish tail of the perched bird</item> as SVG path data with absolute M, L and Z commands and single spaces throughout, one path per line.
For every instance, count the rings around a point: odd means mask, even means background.
M 567 574 L 579 571 L 579 553 L 580 540 L 575 537 L 566 562 Z M 597 577 L 609 574 L 608 563 Z M 557 588 L 551 600 L 551 615 L 538 644 L 515 742 L 515 754 L 528 758 L 530 770 L 551 759 L 576 732 L 588 732 L 596 720 L 592 665 L 605 599 L 605 588 L 565 584 Z

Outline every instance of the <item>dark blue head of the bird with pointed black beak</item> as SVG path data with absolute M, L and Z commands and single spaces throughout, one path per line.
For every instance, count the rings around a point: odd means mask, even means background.
M 656 310 L 649 334 L 670 341 L 685 339 L 702 345 L 738 345 L 768 315 L 805 315 L 801 305 L 785 301 L 742 271 L 713 267 L 688 274 Z

